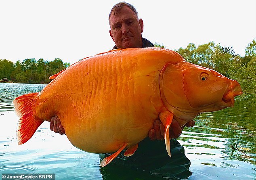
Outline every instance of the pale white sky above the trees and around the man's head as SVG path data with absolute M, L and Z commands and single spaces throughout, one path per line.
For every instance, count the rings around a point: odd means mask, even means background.
M 0 59 L 75 63 L 113 48 L 109 11 L 117 0 L 0 0 Z M 255 0 L 127 0 L 143 37 L 169 49 L 214 41 L 244 50 L 256 38 Z

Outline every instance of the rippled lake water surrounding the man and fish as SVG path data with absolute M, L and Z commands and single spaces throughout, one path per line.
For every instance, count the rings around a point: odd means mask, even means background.
M 48 122 L 28 142 L 17 145 L 19 118 L 12 101 L 44 86 L 0 83 L 0 174 L 55 173 L 56 180 L 155 179 L 125 168 L 105 172 L 99 166 L 99 155 L 73 147 L 65 135 L 50 131 Z M 195 127 L 183 130 L 177 140 L 191 161 L 189 180 L 256 179 L 255 100 L 255 95 L 237 97 L 235 107 L 204 113 L 195 119 Z

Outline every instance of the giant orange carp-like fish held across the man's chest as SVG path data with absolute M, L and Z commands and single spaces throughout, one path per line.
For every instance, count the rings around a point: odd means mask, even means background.
M 234 97 L 242 94 L 237 81 L 164 48 L 111 50 L 50 79 L 54 80 L 41 92 L 13 100 L 20 117 L 18 143 L 27 142 L 42 122 L 57 115 L 75 147 L 91 153 L 115 152 L 101 166 L 123 149 L 125 156 L 132 155 L 158 118 L 165 126 L 170 155 L 173 118 L 184 126 L 200 113 L 233 106 Z

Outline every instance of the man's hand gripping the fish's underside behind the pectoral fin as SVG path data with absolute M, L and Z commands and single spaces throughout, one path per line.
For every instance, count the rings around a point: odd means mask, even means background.
M 191 120 L 191 121 L 187 122 L 185 124 L 185 126 L 193 127 L 193 126 L 195 126 L 195 121 Z M 180 125 L 178 124 L 178 122 L 175 119 L 172 119 L 172 123 L 171 123 L 172 128 L 170 129 L 170 132 L 169 132 L 170 139 L 178 138 L 180 136 L 180 134 L 182 133 L 182 130 L 184 129 L 185 126 L 180 128 Z M 150 140 L 156 140 L 156 139 L 163 140 L 164 139 L 164 125 L 159 119 L 155 120 L 153 128 L 151 130 L 149 130 L 149 139 Z

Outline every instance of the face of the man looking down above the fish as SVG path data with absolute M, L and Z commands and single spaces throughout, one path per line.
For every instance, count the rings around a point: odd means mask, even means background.
M 112 13 L 109 21 L 110 36 L 118 48 L 142 47 L 143 21 L 130 8 L 124 6 L 116 15 Z

